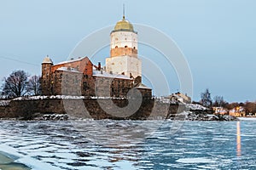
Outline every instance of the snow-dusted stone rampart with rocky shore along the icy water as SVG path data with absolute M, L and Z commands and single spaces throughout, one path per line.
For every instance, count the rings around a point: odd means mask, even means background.
M 134 99 L 131 99 L 131 103 Z M 79 119 L 236 121 L 234 116 L 214 115 L 198 104 L 163 99 L 143 99 L 137 111 L 117 110 L 129 99 L 84 99 L 83 96 L 36 96 L 17 98 L 0 105 L 0 120 L 65 121 Z M 135 100 L 136 102 L 136 100 Z M 110 103 L 110 104 L 109 104 Z M 101 104 L 101 105 L 100 105 Z M 3 119 L 2 119 L 3 118 Z

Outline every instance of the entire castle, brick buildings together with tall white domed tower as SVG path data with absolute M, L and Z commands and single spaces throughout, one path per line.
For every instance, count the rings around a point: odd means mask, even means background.
M 114 26 L 110 39 L 110 57 L 105 69 L 101 63 L 94 65 L 88 57 L 54 65 L 46 56 L 42 63 L 42 94 L 125 98 L 136 88 L 143 98 L 151 98 L 152 89 L 142 83 L 137 32 L 125 15 Z

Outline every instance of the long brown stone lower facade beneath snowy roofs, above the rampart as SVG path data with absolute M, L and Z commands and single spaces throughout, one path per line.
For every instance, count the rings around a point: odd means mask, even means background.
M 46 95 L 125 97 L 131 88 L 133 88 L 133 80 L 130 79 L 55 71 L 51 74 L 50 88 Z

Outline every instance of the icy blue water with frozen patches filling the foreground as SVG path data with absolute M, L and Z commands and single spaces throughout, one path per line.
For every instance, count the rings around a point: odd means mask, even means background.
M 0 169 L 256 169 L 256 119 L 174 123 L 1 121 Z

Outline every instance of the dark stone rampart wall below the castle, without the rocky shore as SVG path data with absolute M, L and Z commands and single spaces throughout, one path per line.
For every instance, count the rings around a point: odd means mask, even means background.
M 131 116 L 125 117 L 125 111 L 109 115 L 102 110 L 100 102 L 108 99 L 24 99 L 12 100 L 9 106 L 0 106 L 0 118 L 24 118 L 31 119 L 37 114 L 68 114 L 70 118 L 94 118 L 94 119 L 154 119 L 173 116 L 180 110 L 179 105 L 170 105 L 154 101 L 154 99 L 143 99 L 138 111 Z M 127 99 L 112 99 L 113 103 L 121 108 L 128 105 Z M 64 107 L 65 106 L 65 107 Z M 108 109 L 112 105 L 108 105 Z M 84 109 L 86 108 L 86 110 Z M 113 110 L 114 111 L 114 110 Z

